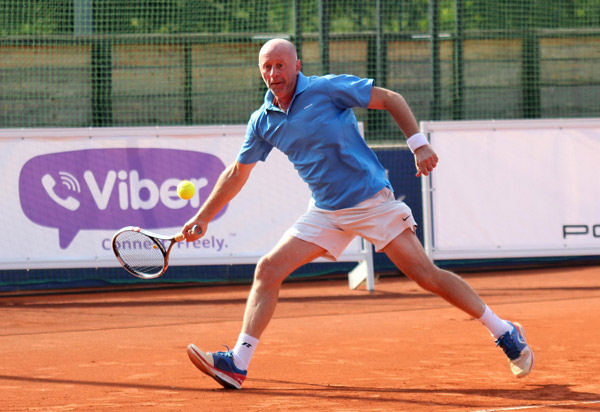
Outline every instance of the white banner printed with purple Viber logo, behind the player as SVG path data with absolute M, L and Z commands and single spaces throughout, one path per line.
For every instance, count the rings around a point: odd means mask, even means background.
M 235 160 L 245 126 L 0 130 L 0 269 L 118 266 L 124 226 L 175 234 Z M 195 183 L 190 200 L 177 196 Z M 202 239 L 177 244 L 170 264 L 254 263 L 307 208 L 310 192 L 273 150 Z M 370 252 L 370 249 L 369 249 Z M 360 260 L 360 239 L 342 260 Z

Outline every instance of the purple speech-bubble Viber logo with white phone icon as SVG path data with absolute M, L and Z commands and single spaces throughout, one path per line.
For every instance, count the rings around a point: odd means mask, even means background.
M 23 213 L 59 231 L 67 248 L 80 230 L 183 225 L 208 197 L 225 164 L 208 153 L 175 149 L 88 149 L 30 159 L 19 176 Z M 177 196 L 191 180 L 196 193 Z M 216 218 L 225 213 L 226 207 Z

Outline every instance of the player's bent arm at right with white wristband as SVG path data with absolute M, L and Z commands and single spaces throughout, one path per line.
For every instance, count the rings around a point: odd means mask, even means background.
M 398 124 L 398 127 L 404 132 L 404 135 L 409 140 L 414 137 L 412 141 L 417 142 L 417 147 L 411 146 L 411 142 L 409 142 L 409 147 L 415 155 L 417 177 L 429 175 L 437 165 L 438 157 L 425 137 L 420 134 L 417 120 L 404 97 L 392 90 L 373 86 L 368 107 L 369 109 L 387 110 Z

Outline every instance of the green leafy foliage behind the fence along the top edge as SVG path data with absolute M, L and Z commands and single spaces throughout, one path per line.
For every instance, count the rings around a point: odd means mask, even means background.
M 600 0 L 440 0 L 440 29 L 455 28 L 463 2 L 467 30 L 600 26 Z M 76 3 L 77 2 L 77 3 Z M 0 35 L 68 34 L 75 5 L 93 8 L 95 33 L 293 32 L 293 0 L 0 0 Z M 303 0 L 304 32 L 319 27 L 319 0 Z M 327 0 L 330 30 L 376 28 L 376 1 Z M 426 32 L 429 0 L 381 0 L 385 32 Z

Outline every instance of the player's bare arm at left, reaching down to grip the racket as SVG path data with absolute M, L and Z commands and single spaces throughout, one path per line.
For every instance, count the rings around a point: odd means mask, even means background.
M 206 202 L 181 230 L 188 242 L 193 242 L 206 233 L 210 221 L 242 190 L 255 165 L 256 163 L 244 164 L 235 161 L 221 173 Z M 202 228 L 202 235 L 198 236 L 191 230 L 194 225 Z

